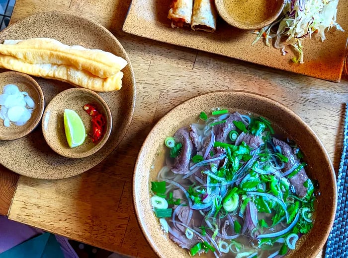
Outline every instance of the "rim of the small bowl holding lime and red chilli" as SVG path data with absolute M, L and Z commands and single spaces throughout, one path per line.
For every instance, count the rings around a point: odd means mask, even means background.
M 50 148 L 52 150 L 54 150 L 59 155 L 62 155 L 62 156 L 67 157 L 67 158 L 73 158 L 73 159 L 86 158 L 86 157 L 96 153 L 99 149 L 101 149 L 104 146 L 104 144 L 106 143 L 106 141 L 108 140 L 108 138 L 110 136 L 110 133 L 111 133 L 111 129 L 112 129 L 111 110 L 110 110 L 109 105 L 106 103 L 106 101 L 98 93 L 96 93 L 95 91 L 92 91 L 92 90 L 87 89 L 87 88 L 82 88 L 82 87 L 73 87 L 73 88 L 69 88 L 69 89 L 61 91 L 60 93 L 58 93 L 56 96 L 54 96 L 52 98 L 52 100 L 47 104 L 47 107 L 45 108 L 45 111 L 43 112 L 42 121 L 45 120 L 47 111 L 51 107 L 51 105 L 53 105 L 53 101 L 55 99 L 57 99 L 60 95 L 66 94 L 67 92 L 71 92 L 71 91 L 78 91 L 78 92 L 82 92 L 84 94 L 90 95 L 90 96 L 96 98 L 101 103 L 101 105 L 105 108 L 106 116 L 107 116 L 107 119 L 108 119 L 108 124 L 107 124 L 107 127 L 106 127 L 106 130 L 105 130 L 105 133 L 104 133 L 104 136 L 103 136 L 102 140 L 100 142 L 98 142 L 91 149 L 89 149 L 89 150 L 87 150 L 85 152 L 82 152 L 82 153 L 74 153 L 74 152 L 69 152 L 69 151 L 68 152 L 64 152 L 64 151 L 61 151 L 61 148 L 55 147 L 55 145 L 51 144 L 51 141 L 48 140 L 47 132 L 44 129 L 44 123 L 43 122 L 41 123 L 41 129 L 42 129 L 42 133 L 44 135 L 44 138 L 45 138 L 45 141 L 47 142 L 47 144 L 50 146 Z

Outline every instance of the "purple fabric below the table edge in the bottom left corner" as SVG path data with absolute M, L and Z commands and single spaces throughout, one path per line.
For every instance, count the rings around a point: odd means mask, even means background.
M 0 254 L 42 233 L 41 229 L 0 216 Z M 79 258 L 66 237 L 56 235 L 56 239 L 65 258 Z

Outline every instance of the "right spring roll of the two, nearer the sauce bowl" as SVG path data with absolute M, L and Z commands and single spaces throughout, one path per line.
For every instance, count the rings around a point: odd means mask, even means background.
M 214 32 L 216 18 L 217 11 L 214 0 L 194 0 L 191 23 L 193 30 Z

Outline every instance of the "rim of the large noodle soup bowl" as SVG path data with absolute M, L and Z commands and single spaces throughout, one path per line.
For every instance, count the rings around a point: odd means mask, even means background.
M 144 218 L 141 216 L 142 214 L 140 213 L 140 201 L 138 200 L 138 188 L 137 188 L 137 169 L 139 166 L 141 166 L 141 162 L 140 162 L 140 158 L 141 158 L 141 154 L 144 150 L 144 147 L 145 145 L 147 144 L 147 141 L 148 139 L 150 138 L 151 134 L 153 134 L 153 131 L 159 126 L 159 124 L 161 123 L 162 120 L 164 120 L 165 118 L 169 117 L 171 115 L 171 113 L 173 111 L 175 111 L 176 109 L 179 109 L 180 108 L 180 105 L 184 104 L 184 103 L 187 103 L 189 101 L 192 101 L 193 99 L 199 97 L 199 96 L 203 96 L 203 95 L 209 95 L 209 94 L 215 94 L 215 93 L 228 93 L 228 92 L 231 92 L 231 93 L 236 93 L 236 94 L 247 94 L 249 96 L 253 96 L 253 97 L 257 97 L 259 99 L 263 99 L 267 102 L 273 102 L 275 105 L 277 105 L 278 107 L 282 108 L 284 111 L 290 113 L 293 117 L 295 117 L 301 124 L 302 126 L 304 126 L 306 129 L 307 129 L 307 132 L 317 141 L 317 143 L 320 145 L 322 151 L 323 151 L 323 154 L 324 154 L 324 158 L 327 162 L 327 164 L 329 165 L 329 168 L 330 168 L 330 174 L 332 176 L 332 179 L 333 179 L 333 200 L 334 200 L 334 207 L 333 207 L 333 213 L 330 214 L 330 223 L 327 227 L 327 230 L 325 232 L 325 238 L 323 238 L 319 245 L 316 245 L 315 247 L 313 247 L 311 249 L 311 256 L 309 258 L 315 258 L 316 255 L 320 252 L 321 249 L 323 249 L 326 241 L 327 241 L 327 238 L 329 237 L 329 234 L 331 232 L 331 229 L 333 227 L 333 224 L 334 224 L 334 220 L 335 220 L 335 216 L 336 216 L 336 210 L 337 210 L 337 179 L 336 179 L 336 173 L 335 173 L 335 169 L 334 169 L 334 166 L 332 164 L 332 161 L 329 157 L 329 154 L 324 146 L 324 144 L 322 143 L 322 141 L 320 140 L 320 138 L 318 137 L 318 135 L 313 131 L 313 129 L 311 129 L 307 123 L 305 123 L 302 118 L 300 116 L 298 116 L 295 112 L 293 112 L 290 108 L 286 107 L 285 105 L 283 105 L 282 103 L 280 103 L 279 101 L 276 101 L 266 95 L 263 95 L 263 94 L 260 94 L 260 93 L 254 93 L 254 92 L 250 92 L 250 91 L 246 91 L 246 90 L 216 90 L 216 91 L 210 91 L 210 92 L 206 92 L 206 93 L 203 93 L 203 94 L 198 94 L 198 95 L 195 95 L 191 98 L 188 98 L 187 100 L 179 103 L 178 105 L 174 106 L 170 111 L 168 111 L 160 120 L 158 120 L 156 122 L 156 124 L 153 126 L 153 128 L 149 131 L 148 135 L 146 136 L 143 144 L 141 145 L 141 148 L 139 149 L 139 152 L 138 152 L 138 156 L 137 156 L 137 159 L 136 159 L 136 162 L 135 162 L 135 165 L 134 165 L 134 169 L 133 169 L 133 183 L 132 183 L 132 188 L 133 188 L 133 191 L 132 191 L 132 195 L 133 195 L 133 205 L 134 205 L 134 209 L 135 209 L 135 213 L 136 213 L 136 217 L 137 217 L 137 222 L 138 222 L 138 225 L 140 226 L 141 228 L 141 231 L 146 239 L 146 241 L 149 243 L 149 245 L 151 246 L 152 250 L 161 258 L 165 258 L 163 255 L 161 255 L 160 253 L 160 250 L 158 249 L 158 247 L 155 245 L 155 243 L 153 241 L 150 241 L 151 239 L 151 235 L 150 235 L 150 232 L 148 230 L 148 227 L 146 227 L 146 222 L 144 222 Z

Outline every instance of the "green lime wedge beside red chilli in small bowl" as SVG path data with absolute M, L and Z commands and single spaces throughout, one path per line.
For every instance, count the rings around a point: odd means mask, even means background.
M 70 148 L 80 146 L 84 143 L 86 129 L 80 116 L 74 110 L 64 110 L 64 129 Z

